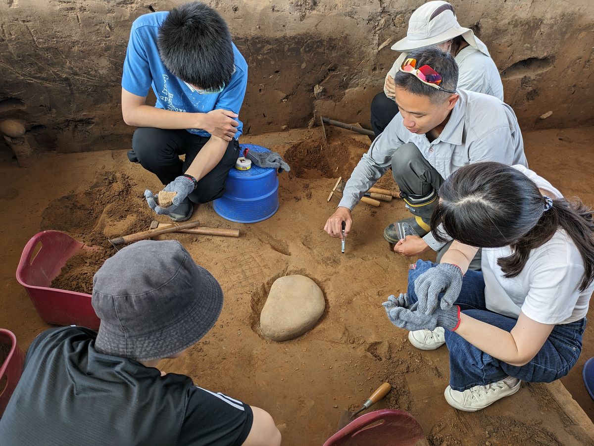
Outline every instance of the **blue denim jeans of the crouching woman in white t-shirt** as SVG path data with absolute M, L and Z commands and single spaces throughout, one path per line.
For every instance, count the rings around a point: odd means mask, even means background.
M 419 260 L 409 271 L 408 298 L 418 300 L 415 280 L 435 264 Z M 456 301 L 464 314 L 476 320 L 511 331 L 517 319 L 494 313 L 485 308 L 485 281 L 481 271 L 467 271 L 462 290 Z M 450 386 L 463 391 L 475 385 L 486 385 L 510 376 L 522 381 L 551 382 L 568 374 L 582 352 L 582 335 L 586 318 L 569 324 L 555 325 L 541 350 L 521 367 L 508 364 L 477 349 L 455 331 L 445 330 L 445 344 L 450 350 Z

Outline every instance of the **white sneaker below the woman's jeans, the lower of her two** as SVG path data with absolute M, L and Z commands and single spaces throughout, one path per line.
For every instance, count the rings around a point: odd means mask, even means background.
M 501 398 L 513 395 L 520 390 L 522 381 L 517 379 L 517 383 L 510 386 L 505 381 L 497 381 L 488 385 L 475 385 L 463 392 L 453 390 L 449 385 L 445 388 L 445 401 L 458 410 L 465 412 L 476 412 L 485 409 L 486 406 L 495 403 Z

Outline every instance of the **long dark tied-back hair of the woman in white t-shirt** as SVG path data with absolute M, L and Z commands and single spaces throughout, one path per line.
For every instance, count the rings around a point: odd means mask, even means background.
M 536 184 L 511 166 L 475 163 L 450 175 L 439 190 L 440 203 L 431 217 L 435 239 L 444 242 L 438 226 L 454 240 L 479 248 L 510 245 L 513 253 L 497 260 L 504 277 L 516 277 L 530 251 L 548 242 L 558 229 L 577 246 L 584 261 L 580 291 L 594 279 L 594 221 L 592 210 L 579 198 L 546 199 Z M 552 197 L 551 197 L 552 198 Z

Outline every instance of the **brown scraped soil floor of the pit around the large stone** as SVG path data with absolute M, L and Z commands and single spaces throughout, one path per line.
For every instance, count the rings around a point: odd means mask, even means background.
M 589 187 L 594 159 L 587 143 L 592 130 L 525 135 L 532 168 L 586 203 L 594 203 Z M 279 177 L 279 211 L 264 222 L 239 224 L 219 217 L 211 204 L 200 205 L 192 218 L 201 226 L 240 229 L 241 237 L 160 237 L 180 241 L 225 292 L 225 306 L 213 330 L 187 355 L 163 361 L 163 370 L 187 374 L 201 387 L 266 409 L 287 446 L 323 444 L 336 431 L 340 413 L 358 408 L 384 381 L 393 390 L 376 408 L 412 413 L 431 445 L 588 444 L 545 384 L 523 384 L 515 396 L 478 413 L 457 412 L 445 403 L 447 349 L 416 350 L 381 306 L 388 295 L 405 292 L 407 267 L 416 260 L 390 253 L 382 237 L 387 224 L 407 217 L 402 201 L 379 208 L 357 205 L 345 254 L 340 253 L 339 239 L 322 229 L 339 200 L 328 203 L 328 193 L 339 176 L 348 178 L 368 149 L 366 137 L 330 129 L 326 143 L 321 129 L 311 129 L 245 137 L 242 142 L 278 151 L 289 163 L 291 171 Z M 143 200 L 144 189 L 159 190 L 159 182 L 128 163 L 125 150 L 47 154 L 26 174 L 11 163 L 5 159 L 0 173 L 14 184 L 15 198 L 0 198 L 5 209 L 0 217 L 7 219 L 24 203 L 31 204 L 31 213 L 29 226 L 18 236 L 1 233 L 10 255 L 1 262 L 9 285 L 0 300 L 0 315 L 5 315 L 2 326 L 14 331 L 26 349 L 49 327 L 12 280 L 20 251 L 34 233 L 63 230 L 98 247 L 72 257 L 53 281 L 54 287 L 90 293 L 94 272 L 115 253 L 109 238 L 146 230 L 154 219 L 168 219 L 154 216 Z M 42 191 L 27 181 L 31 175 L 46 185 Z M 378 185 L 397 191 L 389 170 Z M 261 334 L 259 317 L 271 284 L 286 274 L 311 277 L 323 290 L 327 306 L 311 331 L 276 343 Z M 584 349 L 591 339 L 589 327 Z M 593 354 L 584 350 L 582 359 Z M 576 393 L 584 393 L 580 372 L 576 367 L 567 378 Z

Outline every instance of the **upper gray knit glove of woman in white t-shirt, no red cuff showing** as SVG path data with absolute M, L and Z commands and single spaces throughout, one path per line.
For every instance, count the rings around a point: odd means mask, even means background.
M 441 309 L 454 305 L 462 289 L 462 270 L 451 263 L 440 263 L 425 271 L 415 280 L 415 293 L 419 302 L 419 312 L 432 314 L 437 308 L 438 296 L 441 298 Z

